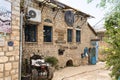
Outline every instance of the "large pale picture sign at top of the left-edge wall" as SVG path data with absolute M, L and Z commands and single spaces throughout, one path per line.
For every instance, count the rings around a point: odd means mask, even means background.
M 0 0 L 0 32 L 11 32 L 11 3 Z

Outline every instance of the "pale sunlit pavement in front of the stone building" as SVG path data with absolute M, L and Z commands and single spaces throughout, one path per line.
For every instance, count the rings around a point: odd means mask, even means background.
M 109 73 L 105 69 L 105 63 L 98 62 L 96 65 L 67 67 L 55 71 L 52 80 L 112 80 Z

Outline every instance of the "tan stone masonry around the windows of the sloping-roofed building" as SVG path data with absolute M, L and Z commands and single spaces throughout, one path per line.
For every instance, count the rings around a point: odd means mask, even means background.
M 59 65 L 61 67 L 66 66 L 68 60 L 72 60 L 74 65 L 81 64 L 81 53 L 83 53 L 85 47 L 90 47 L 90 40 L 95 38 L 95 34 L 89 28 L 86 20 L 78 18 L 74 23 L 73 27 L 69 27 L 64 20 L 65 12 L 62 10 L 52 11 L 52 7 L 45 6 L 39 7 L 36 3 L 31 3 L 29 6 L 32 6 L 36 9 L 42 10 L 42 22 L 37 26 L 37 42 L 25 42 L 23 37 L 23 58 L 30 58 L 32 53 L 44 55 L 44 56 L 55 56 L 59 60 Z M 82 16 L 82 15 L 81 15 Z M 44 22 L 45 19 L 50 19 L 52 23 Z M 43 41 L 43 26 L 51 26 L 53 28 L 53 41 L 50 43 L 45 43 Z M 77 43 L 76 39 L 76 27 L 79 26 L 81 29 L 81 43 Z M 73 42 L 67 42 L 67 29 L 73 29 Z M 59 34 L 61 33 L 63 42 L 57 42 Z M 65 49 L 63 55 L 58 54 L 58 49 L 62 47 Z

